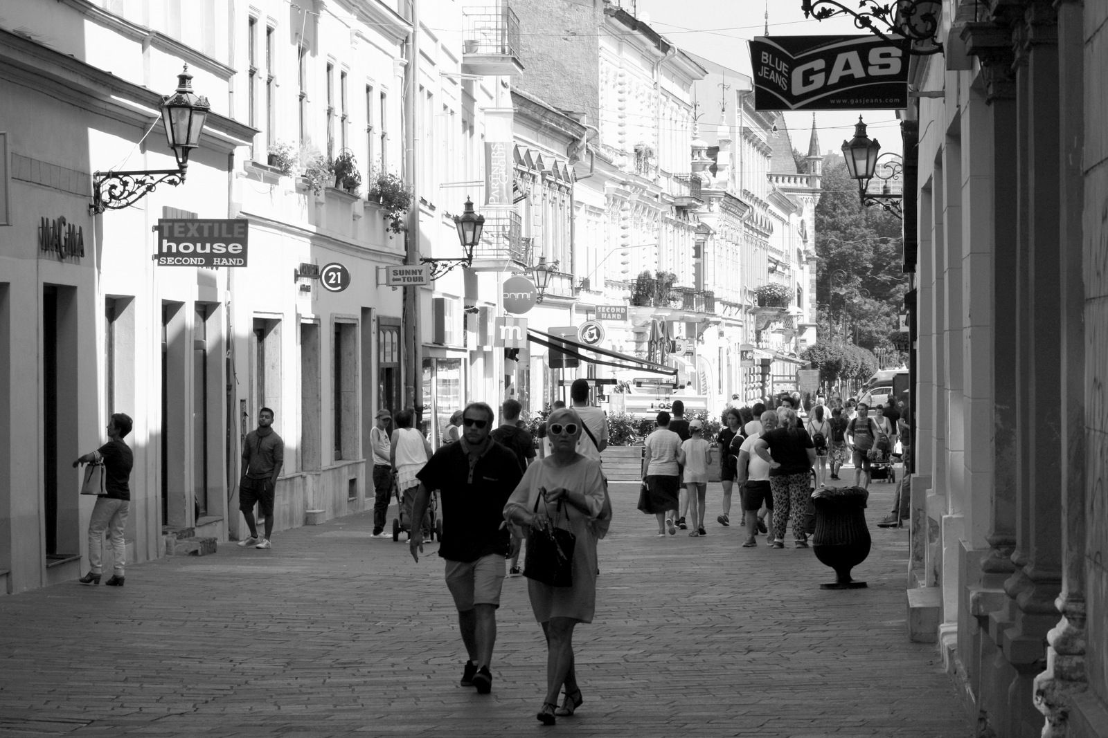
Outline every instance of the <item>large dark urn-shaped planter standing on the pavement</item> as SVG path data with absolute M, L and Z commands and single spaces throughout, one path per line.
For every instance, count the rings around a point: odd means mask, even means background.
M 862 487 L 820 487 L 812 492 L 815 506 L 812 552 L 835 573 L 835 581 L 820 584 L 821 590 L 865 586 L 865 582 L 850 578 L 850 570 L 870 554 L 870 529 L 865 527 L 869 497 L 870 492 Z

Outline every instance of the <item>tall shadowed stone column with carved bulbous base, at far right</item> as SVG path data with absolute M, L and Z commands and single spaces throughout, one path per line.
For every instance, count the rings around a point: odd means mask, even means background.
M 1057 3 L 1059 119 L 1061 152 L 1058 259 L 1061 282 L 1061 331 L 1059 356 L 1060 392 L 1058 414 L 1061 426 L 1061 593 L 1055 601 L 1061 620 L 1047 634 L 1047 667 L 1035 677 L 1035 705 L 1046 716 L 1044 738 L 1067 735 L 1071 697 L 1088 687 L 1086 675 L 1085 605 L 1085 276 L 1083 261 L 1083 211 L 1085 184 L 1084 33 L 1081 3 Z M 1104 365 L 1098 365 L 1102 371 Z

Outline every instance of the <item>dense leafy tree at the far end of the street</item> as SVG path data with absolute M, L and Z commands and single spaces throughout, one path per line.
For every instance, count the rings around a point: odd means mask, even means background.
M 817 304 L 829 335 L 874 349 L 896 330 L 907 291 L 902 224 L 883 208 L 860 207 L 858 183 L 842 157 L 828 156 L 823 165 L 815 207 Z

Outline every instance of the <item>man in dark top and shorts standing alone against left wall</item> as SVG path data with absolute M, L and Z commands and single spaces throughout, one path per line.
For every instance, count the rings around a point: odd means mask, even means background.
M 268 407 L 258 410 L 258 427 L 246 434 L 243 441 L 243 477 L 238 482 L 238 509 L 246 518 L 246 527 L 250 530 L 249 538 L 238 542 L 239 547 L 253 545 L 256 549 L 271 548 L 269 537 L 274 532 L 274 495 L 277 489 L 277 477 L 285 464 L 285 441 L 273 429 L 274 412 Z M 254 521 L 254 506 L 265 518 L 266 534 L 258 538 L 257 523 Z

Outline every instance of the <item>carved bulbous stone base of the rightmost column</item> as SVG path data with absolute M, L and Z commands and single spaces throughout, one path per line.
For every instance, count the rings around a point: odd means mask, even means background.
M 1058 597 L 1061 620 L 1047 633 L 1046 671 L 1035 677 L 1035 707 L 1046 718 L 1044 738 L 1065 738 L 1075 695 L 1088 689 L 1084 597 Z

